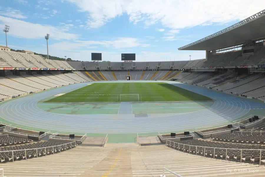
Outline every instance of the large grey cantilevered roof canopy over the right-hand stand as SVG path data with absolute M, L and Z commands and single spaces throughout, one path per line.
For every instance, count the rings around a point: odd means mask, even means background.
M 265 9 L 178 50 L 215 50 L 265 37 Z

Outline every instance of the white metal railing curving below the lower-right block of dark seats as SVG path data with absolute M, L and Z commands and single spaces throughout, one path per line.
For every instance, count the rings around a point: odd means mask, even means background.
M 168 142 L 170 142 L 170 144 L 168 144 Z M 173 148 L 175 149 L 175 143 L 178 144 L 178 150 L 179 150 L 179 147 L 181 148 L 182 145 L 183 145 L 183 152 L 184 152 L 184 149 L 185 149 L 185 146 L 188 146 L 189 147 L 189 153 L 191 153 L 191 147 L 195 147 L 196 148 L 196 152 L 195 154 L 197 155 L 197 148 L 203 148 L 204 149 L 204 153 L 203 153 L 203 156 L 205 157 L 205 152 L 206 152 L 206 148 L 210 148 L 210 149 L 213 149 L 213 159 L 215 158 L 215 155 L 216 155 L 216 149 L 224 149 L 226 150 L 226 158 L 225 160 L 227 159 L 227 150 L 239 150 L 240 151 L 240 163 L 242 162 L 242 151 L 244 150 L 252 150 L 252 151 L 259 151 L 259 165 L 261 164 L 261 152 L 264 152 L 265 150 L 264 149 L 236 149 L 236 148 L 214 148 L 214 147 L 207 147 L 207 146 L 195 146 L 195 145 L 187 145 L 187 144 L 182 144 L 182 143 L 178 143 L 178 142 L 174 142 L 174 141 L 170 141 L 170 140 L 167 140 L 166 142 L 166 145 L 169 145 L 170 148 L 171 148 L 171 142 L 173 142 Z M 252 155 L 251 155 L 252 156 Z M 265 159 L 265 157 L 263 157 Z

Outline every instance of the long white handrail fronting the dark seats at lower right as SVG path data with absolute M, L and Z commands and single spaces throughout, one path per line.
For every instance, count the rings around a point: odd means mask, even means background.
M 207 146 L 195 146 L 195 145 L 182 144 L 182 143 L 178 143 L 178 142 L 174 142 L 174 141 L 170 141 L 170 140 L 167 140 L 166 145 L 168 145 L 168 141 L 174 143 L 174 149 L 175 149 L 175 143 L 178 144 L 178 150 L 179 150 L 179 145 L 183 145 L 183 152 L 184 152 L 184 146 L 185 145 L 186 146 L 189 146 L 189 149 L 191 149 L 191 147 L 196 147 L 196 155 L 197 155 L 197 148 L 198 147 L 204 148 L 204 154 L 203 154 L 203 156 L 205 156 L 205 149 L 206 148 L 212 148 L 212 149 L 214 149 L 213 158 L 215 157 L 214 155 L 216 155 L 215 154 L 215 149 L 225 149 L 226 150 L 226 158 L 227 158 L 227 150 L 240 150 L 241 151 L 240 163 L 242 162 L 242 151 L 243 150 L 256 150 L 256 151 L 260 151 L 259 165 L 261 164 L 261 152 L 262 151 L 265 151 L 265 149 L 236 149 L 236 148 L 215 148 L 215 147 L 207 147 Z M 170 147 L 171 147 L 171 143 L 170 143 Z M 190 153 L 190 150 L 189 150 L 189 153 Z

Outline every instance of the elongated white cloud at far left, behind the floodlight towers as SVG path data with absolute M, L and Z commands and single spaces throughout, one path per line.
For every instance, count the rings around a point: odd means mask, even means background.
M 56 40 L 76 40 L 78 38 L 78 35 L 68 33 L 65 28 L 34 24 L 0 16 L 0 26 L 5 24 L 10 26 L 9 35 L 19 38 L 42 39 L 46 33 L 49 33 L 50 37 Z

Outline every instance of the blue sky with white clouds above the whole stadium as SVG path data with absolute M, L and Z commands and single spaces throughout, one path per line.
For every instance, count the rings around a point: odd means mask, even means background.
M 8 47 L 91 61 L 178 61 L 205 51 L 178 48 L 218 32 L 265 7 L 264 0 L 8 0 L 0 3 L 0 27 L 10 26 Z M 0 45 L 6 45 L 0 32 Z

